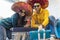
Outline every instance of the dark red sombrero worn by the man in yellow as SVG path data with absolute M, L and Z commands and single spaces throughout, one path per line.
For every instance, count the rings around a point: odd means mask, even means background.
M 33 7 L 34 3 L 40 3 L 40 5 L 43 9 L 47 8 L 49 5 L 48 0 L 27 0 L 27 3 L 29 3 L 32 7 Z

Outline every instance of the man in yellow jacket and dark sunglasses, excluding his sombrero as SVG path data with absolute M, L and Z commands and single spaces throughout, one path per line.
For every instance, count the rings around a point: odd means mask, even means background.
M 31 26 L 41 29 L 45 28 L 49 23 L 49 12 L 46 9 L 42 9 L 40 3 L 34 3 L 34 11 L 31 20 Z

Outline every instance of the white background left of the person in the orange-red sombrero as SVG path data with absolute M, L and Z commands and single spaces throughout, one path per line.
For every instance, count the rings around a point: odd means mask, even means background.
M 11 10 L 11 5 L 13 3 L 0 0 L 0 16 L 6 18 L 10 17 L 14 12 Z

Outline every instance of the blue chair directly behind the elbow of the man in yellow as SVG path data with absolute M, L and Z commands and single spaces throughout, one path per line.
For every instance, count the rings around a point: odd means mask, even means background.
M 54 25 L 55 25 L 55 17 L 49 16 L 49 24 L 46 26 L 46 30 L 51 30 L 51 34 L 55 34 Z

